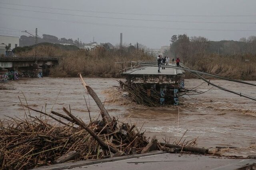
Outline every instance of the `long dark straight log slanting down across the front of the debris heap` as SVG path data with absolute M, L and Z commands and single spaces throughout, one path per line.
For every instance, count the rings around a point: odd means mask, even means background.
M 98 135 L 96 133 L 94 133 L 94 131 L 92 131 L 83 121 L 80 121 L 78 118 L 76 118 L 74 115 L 72 115 L 65 107 L 63 107 L 64 112 L 71 117 L 74 121 L 76 121 L 76 124 L 78 124 L 80 127 L 84 128 L 86 131 L 88 131 L 88 133 L 90 133 L 90 135 L 100 144 L 100 146 L 106 150 L 109 150 L 113 153 L 118 152 L 117 149 L 114 149 L 112 146 L 108 146 L 106 143 L 104 143 L 104 141 L 102 141 L 100 139 L 100 137 L 98 137 Z

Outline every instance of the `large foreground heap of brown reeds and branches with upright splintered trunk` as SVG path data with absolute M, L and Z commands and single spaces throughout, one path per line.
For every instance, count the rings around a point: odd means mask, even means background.
M 102 119 L 86 124 L 65 107 L 66 115 L 25 106 L 47 118 L 26 114 L 25 119 L 0 122 L 1 169 L 30 169 L 70 160 L 137 154 L 146 147 L 144 133 L 135 125 L 111 118 L 92 88 L 83 83 L 99 106 Z

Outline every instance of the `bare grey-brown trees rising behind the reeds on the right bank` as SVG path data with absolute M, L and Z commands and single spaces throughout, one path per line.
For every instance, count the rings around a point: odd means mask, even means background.
M 172 35 L 170 50 L 164 55 L 181 57 L 184 62 L 193 56 L 216 53 L 219 55 L 256 54 L 256 36 L 241 38 L 239 41 L 209 41 L 205 37 L 188 37 L 186 34 Z

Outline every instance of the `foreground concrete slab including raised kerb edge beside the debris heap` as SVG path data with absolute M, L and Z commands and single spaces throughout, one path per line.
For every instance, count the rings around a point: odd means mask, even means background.
M 102 160 L 56 164 L 37 168 L 37 170 L 63 170 L 70 168 L 74 168 L 74 170 L 234 170 L 243 169 L 243 167 L 250 165 L 255 168 L 256 159 L 228 159 L 194 154 L 151 152 Z

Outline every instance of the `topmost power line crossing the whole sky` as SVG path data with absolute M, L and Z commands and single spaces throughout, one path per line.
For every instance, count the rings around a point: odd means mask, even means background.
M 247 15 L 177 15 L 177 14 L 143 14 L 143 13 L 124 13 L 124 12 L 104 12 L 104 11 L 92 11 L 92 10 L 71 10 L 65 8 L 52 8 L 52 7 L 43 7 L 43 6 L 32 6 L 32 5 L 22 5 L 22 4 L 12 4 L 0 2 L 0 4 L 16 5 L 16 6 L 26 6 L 33 8 L 46 8 L 52 10 L 66 10 L 66 11 L 75 11 L 75 12 L 92 12 L 92 13 L 103 13 L 103 14 L 122 14 L 122 15 L 139 15 L 139 16 L 178 16 L 178 17 L 255 17 L 256 14 L 247 14 Z

